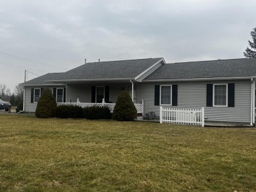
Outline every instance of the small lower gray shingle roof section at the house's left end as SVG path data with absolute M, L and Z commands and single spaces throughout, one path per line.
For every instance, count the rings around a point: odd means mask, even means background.
M 25 83 L 21 83 L 20 85 L 51 85 L 52 83 L 46 83 L 50 79 L 56 80 L 61 79 L 63 77 L 63 73 L 47 73 L 30 81 L 26 81 Z

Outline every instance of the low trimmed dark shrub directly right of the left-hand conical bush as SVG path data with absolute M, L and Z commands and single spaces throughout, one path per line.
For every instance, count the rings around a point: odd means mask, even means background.
M 79 106 L 57 106 L 57 118 L 83 118 L 83 108 Z

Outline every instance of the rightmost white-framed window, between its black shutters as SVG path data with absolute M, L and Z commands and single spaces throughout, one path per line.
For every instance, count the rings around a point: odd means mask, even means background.
M 228 89 L 227 84 L 213 85 L 213 106 L 227 107 Z

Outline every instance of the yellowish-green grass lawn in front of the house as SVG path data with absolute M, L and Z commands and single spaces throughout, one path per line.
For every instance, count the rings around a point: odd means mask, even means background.
M 0 191 L 256 190 L 256 128 L 0 121 Z

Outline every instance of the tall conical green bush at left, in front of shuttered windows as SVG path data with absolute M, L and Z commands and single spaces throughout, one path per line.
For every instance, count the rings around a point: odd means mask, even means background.
M 55 116 L 56 100 L 53 97 L 50 88 L 44 88 L 37 102 L 37 108 L 35 109 L 35 117 L 37 118 L 48 118 Z

